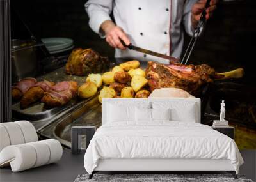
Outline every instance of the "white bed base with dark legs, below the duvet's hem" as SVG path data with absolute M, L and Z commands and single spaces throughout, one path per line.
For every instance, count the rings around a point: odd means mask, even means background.
M 231 173 L 237 179 L 236 171 L 231 165 L 230 160 L 211 160 L 211 159 L 124 159 L 109 158 L 99 160 L 95 170 L 90 174 L 89 179 L 93 178 L 93 174 L 100 171 L 129 171 L 139 172 L 147 171 L 156 174 L 170 171 L 186 171 L 202 172 L 202 171 L 226 171 Z

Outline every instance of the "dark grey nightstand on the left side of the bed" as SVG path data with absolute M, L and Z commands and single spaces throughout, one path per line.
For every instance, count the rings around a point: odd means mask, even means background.
M 95 126 L 72 126 L 71 128 L 71 151 L 72 154 L 81 153 L 82 135 L 86 135 L 86 148 L 96 131 Z

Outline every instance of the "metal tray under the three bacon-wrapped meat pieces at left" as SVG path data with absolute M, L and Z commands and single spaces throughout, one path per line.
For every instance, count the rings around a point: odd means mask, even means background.
M 49 80 L 52 82 L 74 80 L 79 85 L 81 85 L 86 81 L 86 77 L 67 75 L 65 73 L 64 66 L 58 68 L 54 72 L 45 73 L 45 75 L 37 77 L 36 80 L 38 82 L 42 80 Z M 76 109 L 76 107 L 83 104 L 84 102 L 86 102 L 86 100 L 79 100 L 77 98 L 73 98 L 67 105 L 53 108 L 45 107 L 44 103 L 42 102 L 36 102 L 26 109 L 20 109 L 20 103 L 17 102 L 13 103 L 12 105 L 12 120 L 16 121 L 25 119 L 28 121 L 32 121 L 36 129 L 40 129 L 42 128 L 42 126 L 49 124 L 49 122 L 54 121 L 61 116 L 67 114 L 67 112 Z

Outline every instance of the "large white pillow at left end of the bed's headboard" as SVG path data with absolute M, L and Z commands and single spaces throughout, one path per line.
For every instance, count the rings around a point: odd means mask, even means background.
M 118 122 L 118 121 L 134 121 L 135 120 L 135 107 L 127 107 L 120 105 L 108 105 L 108 114 L 107 121 L 108 122 Z

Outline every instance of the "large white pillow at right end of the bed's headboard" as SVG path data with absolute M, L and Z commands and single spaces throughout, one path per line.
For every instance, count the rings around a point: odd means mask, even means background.
M 172 121 L 196 122 L 200 117 L 196 102 L 152 102 L 152 108 L 170 108 Z

